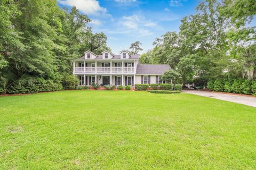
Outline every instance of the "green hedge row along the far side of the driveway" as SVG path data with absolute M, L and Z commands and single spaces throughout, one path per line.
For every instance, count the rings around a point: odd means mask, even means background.
M 207 88 L 213 91 L 232 92 L 235 94 L 256 95 L 256 80 L 216 79 L 207 82 Z

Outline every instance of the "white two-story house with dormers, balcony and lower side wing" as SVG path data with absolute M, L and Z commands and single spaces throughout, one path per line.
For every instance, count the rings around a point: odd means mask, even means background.
M 162 75 L 170 69 L 167 64 L 140 64 L 140 55 L 129 55 L 127 50 L 114 55 L 105 50 L 102 55 L 86 51 L 73 61 L 73 74 L 77 75 L 79 85 L 89 86 L 97 82 L 102 86 L 164 83 Z

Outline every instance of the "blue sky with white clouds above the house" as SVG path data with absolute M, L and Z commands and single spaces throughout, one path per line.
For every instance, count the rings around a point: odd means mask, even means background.
M 143 52 L 155 38 L 179 31 L 183 16 L 194 14 L 199 0 L 58 0 L 60 7 L 76 6 L 92 20 L 93 32 L 104 32 L 114 54 L 140 41 Z M 141 52 L 142 53 L 142 52 Z

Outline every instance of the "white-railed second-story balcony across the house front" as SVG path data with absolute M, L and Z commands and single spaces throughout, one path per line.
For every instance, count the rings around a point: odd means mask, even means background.
M 134 67 L 75 67 L 74 73 L 133 73 Z

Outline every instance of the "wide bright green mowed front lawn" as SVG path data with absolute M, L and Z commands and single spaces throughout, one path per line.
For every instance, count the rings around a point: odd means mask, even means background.
M 256 108 L 190 94 L 0 97 L 0 169 L 255 169 Z

